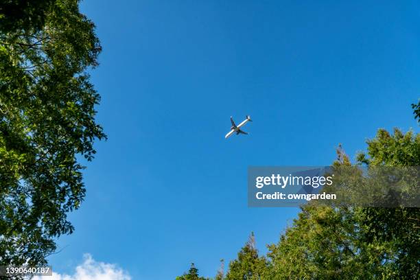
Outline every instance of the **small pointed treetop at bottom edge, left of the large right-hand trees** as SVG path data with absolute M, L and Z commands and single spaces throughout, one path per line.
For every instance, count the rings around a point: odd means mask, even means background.
M 237 259 L 229 264 L 226 280 L 268 279 L 268 263 L 266 258 L 259 257 L 255 246 L 255 236 L 251 233 L 248 242 L 237 253 Z

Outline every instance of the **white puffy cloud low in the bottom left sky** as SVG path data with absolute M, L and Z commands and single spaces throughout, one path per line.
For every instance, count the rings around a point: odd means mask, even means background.
M 60 274 L 53 270 L 52 277 L 34 277 L 34 280 L 131 280 L 131 277 L 115 264 L 95 261 L 91 255 L 85 254 L 82 264 L 75 268 L 73 275 Z

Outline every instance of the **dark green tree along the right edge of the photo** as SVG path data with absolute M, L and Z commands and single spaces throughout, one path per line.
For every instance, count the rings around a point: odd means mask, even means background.
M 420 166 L 419 134 L 410 131 L 404 135 L 395 129 L 390 135 L 379 130 L 367 143 L 367 154 L 358 155 L 358 161 L 366 165 Z M 384 248 L 382 263 L 388 268 L 387 276 L 413 279 L 420 275 L 419 208 L 363 208 L 358 214 L 364 242 Z

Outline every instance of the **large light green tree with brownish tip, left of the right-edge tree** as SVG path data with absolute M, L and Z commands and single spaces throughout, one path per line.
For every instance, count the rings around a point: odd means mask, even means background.
M 268 246 L 271 279 L 369 279 L 358 231 L 352 209 L 308 203 L 278 244 Z

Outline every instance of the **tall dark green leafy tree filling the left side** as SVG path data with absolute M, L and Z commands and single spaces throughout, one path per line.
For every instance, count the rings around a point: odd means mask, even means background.
M 54 238 L 73 231 L 67 213 L 85 194 L 78 156 L 93 159 L 106 137 L 86 73 L 101 47 L 78 2 L 1 2 L 1 264 L 45 264 Z

